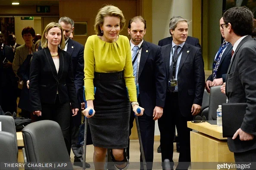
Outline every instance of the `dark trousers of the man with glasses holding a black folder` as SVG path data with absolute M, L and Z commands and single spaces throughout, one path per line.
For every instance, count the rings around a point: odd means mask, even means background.
M 234 152 L 234 159 L 236 164 L 240 165 L 240 168 L 237 168 L 237 170 L 256 170 L 256 149 L 252 149 L 246 152 Z M 245 164 L 249 164 L 250 168 L 243 168 L 242 166 Z

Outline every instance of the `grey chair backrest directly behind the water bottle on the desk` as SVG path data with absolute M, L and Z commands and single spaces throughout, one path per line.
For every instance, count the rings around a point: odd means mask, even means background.
M 221 92 L 220 87 L 221 85 L 211 87 L 208 120 L 217 120 L 219 105 L 226 103 L 227 96 Z

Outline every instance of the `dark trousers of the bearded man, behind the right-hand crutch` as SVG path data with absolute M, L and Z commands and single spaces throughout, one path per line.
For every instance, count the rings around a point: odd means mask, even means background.
M 138 96 L 138 103 L 140 104 L 140 95 Z M 140 105 L 141 106 L 141 105 Z M 143 107 L 143 106 L 142 106 Z M 133 127 L 134 112 L 131 108 L 131 115 L 129 121 L 129 136 L 131 135 L 131 128 Z M 144 112 L 142 116 L 138 116 L 142 146 L 144 150 L 145 160 L 147 162 L 147 170 L 152 170 L 154 158 L 154 134 L 155 134 L 155 121 L 153 116 L 148 116 Z M 128 143 L 127 153 L 129 158 L 130 140 Z M 143 170 L 142 157 L 140 153 L 140 170 Z

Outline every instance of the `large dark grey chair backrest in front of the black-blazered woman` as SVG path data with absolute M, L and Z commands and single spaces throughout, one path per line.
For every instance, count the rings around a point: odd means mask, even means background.
M 56 121 L 43 120 L 28 124 L 22 129 L 22 135 L 28 162 L 65 162 L 67 169 L 73 169 L 61 128 Z

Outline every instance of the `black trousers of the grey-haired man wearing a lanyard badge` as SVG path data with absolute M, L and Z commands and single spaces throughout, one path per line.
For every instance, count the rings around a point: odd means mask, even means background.
M 162 162 L 165 159 L 170 160 L 171 167 L 174 163 L 173 157 L 173 144 L 175 125 L 179 134 L 180 141 L 180 155 L 179 164 L 176 170 L 185 170 L 190 165 L 190 131 L 187 127 L 187 121 L 192 120 L 192 115 L 184 117 L 181 115 L 178 105 L 178 92 L 167 92 L 165 99 L 165 107 L 163 115 L 158 119 L 158 127 L 160 131 L 160 145 Z M 180 163 L 181 162 L 181 163 Z

